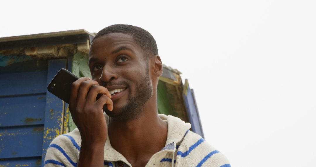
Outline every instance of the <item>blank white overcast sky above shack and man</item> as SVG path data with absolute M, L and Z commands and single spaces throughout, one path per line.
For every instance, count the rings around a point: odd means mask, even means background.
M 1 1 L 0 37 L 148 30 L 234 167 L 316 166 L 316 1 Z

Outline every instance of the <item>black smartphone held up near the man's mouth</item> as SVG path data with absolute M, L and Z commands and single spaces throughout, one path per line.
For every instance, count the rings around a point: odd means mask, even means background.
M 64 102 L 69 103 L 71 84 L 77 79 L 79 78 L 76 75 L 62 68 L 48 84 L 47 90 Z

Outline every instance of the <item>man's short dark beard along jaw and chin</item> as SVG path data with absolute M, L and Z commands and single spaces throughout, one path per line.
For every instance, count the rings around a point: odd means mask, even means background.
M 107 107 L 103 107 L 103 111 L 112 118 L 117 118 L 117 121 L 131 121 L 137 119 L 143 111 L 145 103 L 153 96 L 153 87 L 149 80 L 148 74 L 141 79 L 141 82 L 136 87 L 136 95 L 132 96 L 131 91 L 128 96 L 128 103 L 119 108 L 115 113 L 109 111 Z

